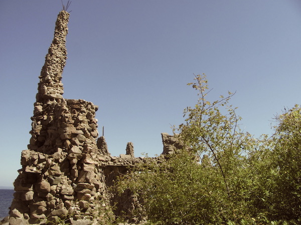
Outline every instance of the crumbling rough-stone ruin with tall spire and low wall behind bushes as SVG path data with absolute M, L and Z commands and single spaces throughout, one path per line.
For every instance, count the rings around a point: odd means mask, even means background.
M 110 216 L 105 211 L 112 199 L 118 202 L 107 187 L 120 173 L 145 162 L 143 157 L 134 157 L 132 142 L 127 143 L 126 154 L 111 156 L 104 136 L 97 139 L 98 106 L 63 97 L 69 15 L 62 10 L 57 17 L 39 76 L 30 144 L 22 151 L 22 168 L 4 224 L 55 224 L 67 215 L 71 224 L 101 224 L 101 218 Z M 175 136 L 162 133 L 162 138 L 163 154 L 183 147 Z M 118 204 L 115 215 L 129 207 L 122 199 Z

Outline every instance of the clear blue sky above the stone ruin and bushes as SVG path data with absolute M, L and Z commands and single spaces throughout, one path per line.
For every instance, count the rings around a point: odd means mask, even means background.
M 66 0 L 64 0 L 66 3 Z M 27 149 L 38 76 L 60 0 L 0 0 L 0 186 Z M 112 155 L 163 150 L 161 132 L 197 101 L 186 83 L 206 73 L 209 100 L 228 90 L 251 134 L 300 103 L 297 0 L 72 0 L 64 97 L 99 105 Z

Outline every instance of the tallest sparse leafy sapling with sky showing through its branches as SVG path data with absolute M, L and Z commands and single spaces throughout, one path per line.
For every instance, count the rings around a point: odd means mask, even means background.
M 205 75 L 197 75 L 195 80 L 188 85 L 192 85 L 200 97 L 195 107 L 184 110 L 184 116 L 188 114 L 188 117 L 186 124 L 180 125 L 179 131 L 193 152 L 200 156 L 207 154 L 212 165 L 219 168 L 225 191 L 231 197 L 228 176 L 240 163 L 248 135 L 240 132 L 238 121 L 241 118 L 236 115 L 235 108 L 228 105 L 233 93 L 229 92 L 226 97 L 221 95 L 220 100 L 211 103 L 205 98 L 210 91 L 207 91 Z

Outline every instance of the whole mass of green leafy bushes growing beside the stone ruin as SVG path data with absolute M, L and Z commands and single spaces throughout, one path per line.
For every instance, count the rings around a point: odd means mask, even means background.
M 199 98 L 174 127 L 184 149 L 121 176 L 119 192 L 143 199 L 149 224 L 301 224 L 300 106 L 254 138 L 239 128 L 233 93 L 211 103 L 205 74 L 189 85 Z

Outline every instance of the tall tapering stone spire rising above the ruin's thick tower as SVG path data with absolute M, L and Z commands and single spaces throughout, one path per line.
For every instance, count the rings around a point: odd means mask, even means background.
M 68 33 L 69 13 L 65 10 L 58 14 L 54 38 L 45 56 L 45 64 L 42 67 L 38 93 L 36 96 L 34 115 L 31 117 L 32 134 L 29 149 L 53 153 L 59 136 L 57 127 L 59 106 L 66 105 L 62 94 L 62 73 L 66 65 L 67 49 L 66 36 Z

